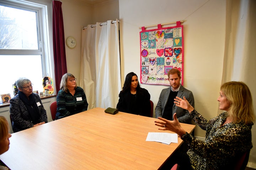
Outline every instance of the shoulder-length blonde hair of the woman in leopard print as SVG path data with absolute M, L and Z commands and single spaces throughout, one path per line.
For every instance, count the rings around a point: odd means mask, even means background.
M 255 121 L 251 92 L 245 83 L 230 81 L 224 83 L 220 90 L 230 102 L 228 115 L 235 123 L 244 121 L 245 124 L 249 124 Z

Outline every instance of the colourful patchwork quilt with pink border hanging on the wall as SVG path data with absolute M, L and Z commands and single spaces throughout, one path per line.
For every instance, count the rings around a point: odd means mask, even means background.
M 181 72 L 183 85 L 183 26 L 176 22 L 174 27 L 140 32 L 140 83 L 170 85 L 167 73 L 176 68 Z

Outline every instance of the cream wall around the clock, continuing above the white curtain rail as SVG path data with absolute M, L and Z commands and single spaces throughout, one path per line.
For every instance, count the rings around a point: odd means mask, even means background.
M 108 0 L 95 5 L 90 5 L 79 0 L 62 0 L 65 40 L 68 36 L 76 39 L 76 47 L 66 47 L 66 62 L 68 72 L 80 78 L 81 58 L 81 32 L 82 27 L 96 22 L 119 19 L 118 0 Z M 78 86 L 80 81 L 77 81 Z

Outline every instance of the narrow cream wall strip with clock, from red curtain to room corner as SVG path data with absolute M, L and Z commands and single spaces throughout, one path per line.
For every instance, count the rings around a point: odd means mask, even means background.
M 62 0 L 62 12 L 65 40 L 68 36 L 76 39 L 74 49 L 65 46 L 67 69 L 79 79 L 82 27 L 92 23 L 92 6 L 80 1 Z M 77 81 L 77 84 L 79 86 L 80 81 Z

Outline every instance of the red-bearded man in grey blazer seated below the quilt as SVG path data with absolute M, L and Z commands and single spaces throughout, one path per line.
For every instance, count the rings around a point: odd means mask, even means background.
M 191 124 L 189 112 L 186 109 L 175 106 L 174 98 L 178 96 L 183 99 L 183 96 L 185 96 L 191 106 L 194 107 L 193 93 L 180 84 L 181 72 L 178 69 L 170 69 L 167 75 L 171 87 L 161 91 L 158 104 L 155 108 L 156 118 L 161 117 L 167 120 L 173 120 L 173 114 L 176 113 L 180 123 Z

